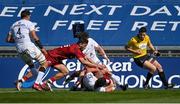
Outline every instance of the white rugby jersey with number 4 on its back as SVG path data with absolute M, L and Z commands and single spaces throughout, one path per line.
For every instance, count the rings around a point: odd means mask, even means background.
M 29 36 L 32 30 L 35 30 L 35 26 L 31 21 L 25 19 L 21 19 L 11 26 L 10 32 L 14 37 L 18 52 L 23 52 L 27 47 L 34 47 Z

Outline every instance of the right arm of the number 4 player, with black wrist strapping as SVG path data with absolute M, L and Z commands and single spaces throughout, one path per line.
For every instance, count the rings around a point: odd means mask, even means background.
M 32 31 L 30 32 L 30 34 L 31 34 L 31 37 L 34 39 L 35 44 L 41 49 L 41 51 L 43 52 L 43 54 L 47 54 L 47 51 L 46 51 L 46 49 L 43 47 L 43 45 L 41 44 L 41 41 L 40 41 L 39 37 L 36 35 L 35 30 L 32 30 Z

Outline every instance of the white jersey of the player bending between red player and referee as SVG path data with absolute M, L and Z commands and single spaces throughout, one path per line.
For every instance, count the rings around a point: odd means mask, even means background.
M 86 48 L 83 50 L 83 53 L 86 55 L 86 57 L 90 58 L 95 63 L 101 63 L 101 61 L 98 59 L 96 55 L 95 47 L 99 47 L 99 44 L 92 38 L 88 38 L 88 44 Z

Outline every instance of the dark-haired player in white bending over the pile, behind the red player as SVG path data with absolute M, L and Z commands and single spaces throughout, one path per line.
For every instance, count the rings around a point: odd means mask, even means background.
M 103 50 L 103 48 L 92 38 L 89 38 L 88 33 L 86 32 L 81 32 L 77 35 L 77 38 L 79 39 L 88 39 L 88 44 L 86 46 L 86 48 L 83 50 L 83 53 L 86 55 L 86 57 L 89 59 L 89 61 L 91 61 L 92 63 L 98 63 L 98 64 L 102 64 L 102 62 L 99 60 L 99 58 L 96 55 L 96 51 L 99 52 L 99 54 L 101 56 L 103 56 L 107 62 L 110 62 L 109 58 L 107 57 L 105 51 Z M 86 68 L 88 70 L 88 68 Z M 94 72 L 97 69 L 90 69 L 91 72 Z M 109 70 L 107 68 L 104 68 L 105 72 L 108 72 L 111 76 L 111 78 L 115 81 L 115 83 L 120 86 L 123 90 L 127 89 L 127 84 L 121 84 L 120 82 L 120 78 L 117 75 L 114 75 L 113 73 L 109 72 Z M 66 83 L 69 82 L 71 79 L 73 79 L 73 77 L 77 77 L 78 74 L 72 74 L 69 78 L 66 79 Z

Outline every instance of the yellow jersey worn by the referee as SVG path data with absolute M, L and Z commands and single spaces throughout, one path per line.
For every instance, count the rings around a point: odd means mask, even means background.
M 147 45 L 150 42 L 150 38 L 148 35 L 145 35 L 144 40 L 140 40 L 137 36 L 131 38 L 128 42 L 128 47 L 131 47 L 133 50 L 140 50 L 142 54 L 133 54 L 134 58 L 139 58 L 147 54 Z

